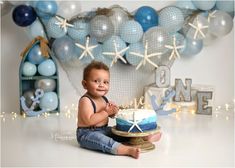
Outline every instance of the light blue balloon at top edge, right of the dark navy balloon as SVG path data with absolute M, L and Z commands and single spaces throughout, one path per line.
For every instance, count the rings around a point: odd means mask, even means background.
M 57 12 L 57 3 L 55 1 L 38 1 L 35 5 L 39 17 L 49 19 Z

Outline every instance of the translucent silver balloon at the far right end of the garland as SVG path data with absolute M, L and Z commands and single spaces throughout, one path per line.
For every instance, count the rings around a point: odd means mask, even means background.
M 210 20 L 209 31 L 217 37 L 222 37 L 228 34 L 232 29 L 232 17 L 224 11 L 216 11 L 214 17 Z

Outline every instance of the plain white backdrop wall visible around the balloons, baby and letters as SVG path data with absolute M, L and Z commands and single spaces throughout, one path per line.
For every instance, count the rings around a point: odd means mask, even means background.
M 119 4 L 128 11 L 148 5 L 157 10 L 173 4 L 160 1 L 81 1 L 82 11 L 90 11 L 97 7 L 110 7 Z M 13 23 L 11 14 L 1 18 L 1 111 L 19 111 L 19 65 L 20 52 L 30 42 L 25 30 Z M 70 68 L 69 82 L 66 72 L 59 66 L 60 101 L 64 106 L 77 104 L 84 90 L 81 87 L 83 66 Z M 171 68 L 171 83 L 175 78 L 191 78 L 193 84 L 205 84 L 215 87 L 215 104 L 223 105 L 234 99 L 234 29 L 227 36 L 220 38 L 210 46 L 204 47 L 190 59 L 175 61 Z M 118 63 L 111 69 L 111 90 L 109 99 L 118 104 L 143 94 L 143 87 L 154 82 L 154 73 L 135 71 L 133 67 Z

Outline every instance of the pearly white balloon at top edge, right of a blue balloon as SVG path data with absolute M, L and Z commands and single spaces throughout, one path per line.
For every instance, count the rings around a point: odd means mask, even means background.
M 65 19 L 71 19 L 81 12 L 81 3 L 79 1 L 59 1 L 57 15 Z

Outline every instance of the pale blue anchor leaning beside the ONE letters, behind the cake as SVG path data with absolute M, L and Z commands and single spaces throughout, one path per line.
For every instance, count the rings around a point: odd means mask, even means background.
M 158 115 L 168 115 L 171 113 L 176 112 L 175 108 L 172 108 L 170 110 L 164 110 L 164 107 L 166 106 L 166 103 L 169 102 L 169 100 L 175 96 L 175 90 L 173 90 L 172 88 L 168 88 L 165 91 L 165 96 L 162 98 L 162 102 L 160 103 L 160 105 L 158 105 L 156 103 L 156 96 L 151 94 L 150 92 L 148 92 L 150 94 L 150 100 L 151 100 L 151 104 L 153 107 L 153 110 L 158 114 Z

